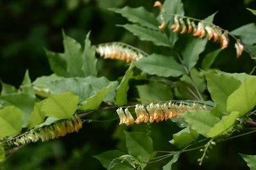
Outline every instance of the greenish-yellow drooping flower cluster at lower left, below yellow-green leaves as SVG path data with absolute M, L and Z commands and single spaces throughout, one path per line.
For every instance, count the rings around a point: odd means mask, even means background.
M 77 115 L 75 115 L 70 120 L 61 121 L 54 123 L 53 125 L 26 132 L 19 137 L 15 137 L 14 139 L 7 141 L 7 144 L 10 146 L 20 146 L 28 143 L 35 143 L 40 139 L 42 142 L 45 142 L 51 139 L 65 136 L 72 132 L 78 132 L 82 127 L 83 122 Z

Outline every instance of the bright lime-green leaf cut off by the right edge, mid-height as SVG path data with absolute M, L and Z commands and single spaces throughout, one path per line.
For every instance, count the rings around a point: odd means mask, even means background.
M 227 99 L 227 111 L 238 111 L 243 116 L 256 104 L 256 77 L 254 79 L 244 79 L 234 93 Z M 231 85 L 231 84 L 229 84 Z

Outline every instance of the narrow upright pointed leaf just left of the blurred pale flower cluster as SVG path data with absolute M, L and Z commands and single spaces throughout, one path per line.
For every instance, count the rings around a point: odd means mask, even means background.
M 82 71 L 84 77 L 89 75 L 97 75 L 97 58 L 95 58 L 95 50 L 93 49 L 89 40 L 90 32 L 86 35 L 84 40 L 84 51 L 83 51 L 83 65 Z

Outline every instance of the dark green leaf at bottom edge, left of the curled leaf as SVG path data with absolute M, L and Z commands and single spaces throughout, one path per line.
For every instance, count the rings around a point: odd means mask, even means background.
M 118 150 L 109 150 L 106 151 L 104 153 L 101 153 L 99 155 L 95 155 L 93 157 L 97 158 L 100 161 L 100 164 L 102 164 L 103 167 L 105 167 L 106 169 L 109 168 L 109 165 L 111 164 L 111 162 L 118 157 L 121 157 L 122 155 L 124 155 L 124 153 L 122 153 L 121 151 Z M 125 169 L 125 170 L 131 170 L 133 169 L 130 166 L 126 166 L 125 164 L 116 164 L 116 166 L 113 169 Z

